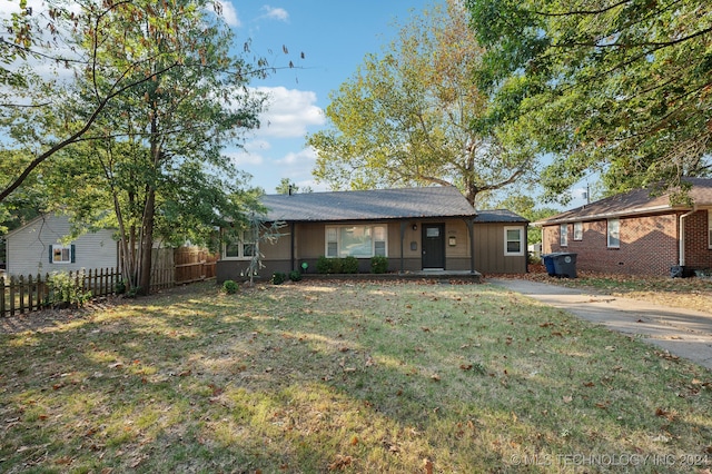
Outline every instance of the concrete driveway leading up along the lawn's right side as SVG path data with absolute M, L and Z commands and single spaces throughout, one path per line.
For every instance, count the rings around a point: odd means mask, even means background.
M 583 319 L 623 334 L 640 335 L 679 357 L 712 371 L 712 314 L 673 308 L 524 279 L 487 278 L 504 287 L 565 309 Z

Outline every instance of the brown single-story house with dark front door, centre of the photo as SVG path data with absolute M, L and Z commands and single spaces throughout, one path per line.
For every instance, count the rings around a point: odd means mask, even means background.
M 285 224 L 281 236 L 256 243 L 245 233 L 225 244 L 218 283 L 241 279 L 257 251 L 264 276 L 303 264 L 315 273 L 319 257 L 346 256 L 359 273 L 370 271 L 374 256 L 387 257 L 389 271 L 526 271 L 526 219 L 478 214 L 455 187 L 267 195 L 261 204 L 267 221 Z

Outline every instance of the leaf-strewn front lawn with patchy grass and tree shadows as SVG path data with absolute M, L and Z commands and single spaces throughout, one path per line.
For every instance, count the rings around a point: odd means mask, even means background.
M 710 406 L 709 371 L 490 285 L 198 285 L 0 336 L 8 473 L 702 472 Z

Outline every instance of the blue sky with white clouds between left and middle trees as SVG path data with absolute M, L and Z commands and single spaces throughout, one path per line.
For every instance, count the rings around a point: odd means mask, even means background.
M 382 51 L 397 32 L 396 22 L 407 23 L 411 14 L 438 1 L 224 2 L 225 19 L 240 46 L 250 38 L 255 55 L 276 66 L 289 60 L 297 66 L 251 83 L 269 93 L 269 110 L 261 117 L 263 127 L 248 135 L 245 151 L 227 150 L 253 176 L 249 184 L 274 194 L 281 178 L 289 178 L 300 187 L 328 190 L 314 182 L 315 155 L 305 148 L 305 135 L 325 127 L 329 92 L 355 73 L 367 53 Z

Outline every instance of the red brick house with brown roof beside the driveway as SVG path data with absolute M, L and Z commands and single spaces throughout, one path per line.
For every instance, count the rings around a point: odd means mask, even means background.
M 712 268 L 712 179 L 686 178 L 691 205 L 647 189 L 612 196 L 534 223 L 542 254 L 577 254 L 583 270 L 675 275 Z

